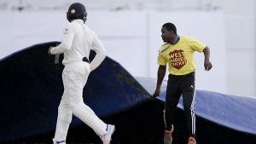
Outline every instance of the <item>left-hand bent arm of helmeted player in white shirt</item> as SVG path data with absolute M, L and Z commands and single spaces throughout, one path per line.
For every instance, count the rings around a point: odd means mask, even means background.
M 73 29 L 70 26 L 68 26 L 67 28 L 64 29 L 63 40 L 61 44 L 59 44 L 56 47 L 53 47 L 53 46 L 49 47 L 49 50 L 48 50 L 49 55 L 61 54 L 71 49 L 71 45 L 73 43 L 73 37 L 74 37 Z

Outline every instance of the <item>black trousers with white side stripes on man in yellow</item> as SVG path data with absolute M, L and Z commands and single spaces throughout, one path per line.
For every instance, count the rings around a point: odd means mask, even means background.
M 166 130 L 172 128 L 174 112 L 181 95 L 189 136 L 195 136 L 195 72 L 183 76 L 169 75 L 164 115 Z

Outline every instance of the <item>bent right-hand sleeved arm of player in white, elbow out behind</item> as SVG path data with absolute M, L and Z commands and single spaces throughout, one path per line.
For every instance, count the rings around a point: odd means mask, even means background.
M 96 51 L 95 58 L 90 62 L 90 72 L 100 66 L 102 61 L 106 57 L 106 49 L 104 49 L 102 42 L 98 37 L 95 37 L 95 41 L 92 43 L 92 48 Z

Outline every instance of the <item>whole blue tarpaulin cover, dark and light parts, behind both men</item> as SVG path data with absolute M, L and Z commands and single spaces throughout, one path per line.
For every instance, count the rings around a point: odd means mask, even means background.
M 49 46 L 55 44 L 58 42 L 36 44 L 0 60 L 0 142 L 55 130 L 63 92 L 63 66 L 55 64 L 55 55 L 47 53 Z M 155 84 L 155 78 L 134 78 L 107 57 L 90 73 L 84 87 L 84 102 L 99 117 L 109 116 L 151 101 Z M 165 96 L 166 81 L 158 99 L 164 102 Z M 195 102 L 197 116 L 256 135 L 255 98 L 197 89 Z M 183 108 L 182 99 L 178 107 Z M 71 127 L 80 124 L 74 118 Z

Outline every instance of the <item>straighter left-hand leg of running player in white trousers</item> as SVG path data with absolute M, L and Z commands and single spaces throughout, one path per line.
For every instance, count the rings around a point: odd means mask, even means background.
M 67 103 L 67 95 L 66 95 L 67 89 L 65 89 L 66 78 L 64 74 L 62 74 L 62 80 L 64 85 L 64 93 L 61 97 L 61 103 L 58 107 L 58 118 L 57 118 L 56 130 L 55 130 L 55 138 L 53 139 L 54 143 L 66 142 L 67 130 L 69 128 L 69 124 L 71 123 L 72 116 L 73 116 L 73 112 L 70 110 Z

